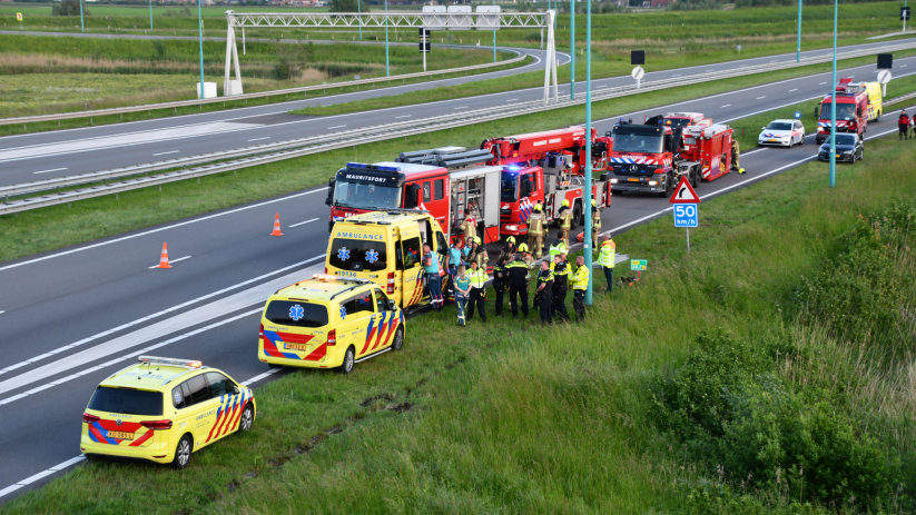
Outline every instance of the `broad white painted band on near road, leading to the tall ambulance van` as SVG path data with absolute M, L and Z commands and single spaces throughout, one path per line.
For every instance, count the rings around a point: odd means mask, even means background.
M 315 256 L 313 260 L 321 259 L 323 257 L 324 255 Z M 270 279 L 266 283 L 255 285 L 246 290 L 219 298 L 204 306 L 199 306 L 194 309 L 180 313 L 170 318 L 166 318 L 164 320 L 156 321 L 148 326 L 140 327 L 137 330 L 134 330 L 132 333 L 127 333 L 125 335 L 117 336 L 108 341 L 104 341 L 92 347 L 80 350 L 78 353 L 71 354 L 69 356 L 65 356 L 47 365 L 42 365 L 37 368 L 23 372 L 18 376 L 13 376 L 9 379 L 0 382 L 0 394 L 6 394 L 14 389 L 21 388 L 23 386 L 31 385 L 40 380 L 46 380 L 59 374 L 63 374 L 78 367 L 81 367 L 83 365 L 88 365 L 89 363 L 97 362 L 99 359 L 105 359 L 116 353 L 132 353 L 129 349 L 144 345 L 148 341 L 166 337 L 177 330 L 184 330 L 186 327 L 193 327 L 198 324 L 204 324 L 209 320 L 214 320 L 218 317 L 224 316 L 227 313 L 236 313 L 242 309 L 248 309 L 255 305 L 263 305 L 264 299 L 269 297 L 270 294 L 276 291 L 278 288 L 288 286 L 297 280 L 302 280 L 303 277 L 312 277 L 313 274 L 319 273 L 322 270 L 324 270 L 323 264 L 296 270 L 292 274 L 287 274 L 276 279 Z M 260 308 L 258 308 L 257 310 L 259 309 Z M 256 313 L 256 310 L 250 313 Z M 210 326 L 216 327 L 214 325 Z M 201 329 L 197 329 L 193 331 L 193 334 L 198 334 L 200 331 Z M 177 339 L 181 338 L 183 337 L 177 337 Z M 166 341 L 168 343 L 174 340 L 176 340 L 176 338 L 171 338 Z M 147 347 L 142 351 L 159 348 L 162 345 L 165 344 L 157 344 L 152 347 Z M 132 356 L 135 354 L 130 355 Z M 97 367 L 95 369 L 97 369 Z M 51 383 L 46 383 L 41 386 L 35 387 L 31 390 L 26 392 L 24 394 L 19 394 L 14 395 L 13 397 L 0 399 L 0 406 L 9 404 L 18 398 L 22 398 L 23 396 L 31 395 L 36 392 L 40 392 L 50 386 L 60 385 L 85 374 L 86 370 L 73 373 L 67 377 L 55 379 Z

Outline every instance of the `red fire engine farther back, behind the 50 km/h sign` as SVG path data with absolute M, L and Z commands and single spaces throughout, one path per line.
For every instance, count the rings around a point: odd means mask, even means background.
M 698 186 L 701 179 L 713 180 L 732 169 L 741 171 L 730 127 L 701 122 L 672 129 L 664 119 L 656 116 L 646 125 L 614 126 L 610 157 L 613 191 L 669 197 L 681 177 Z

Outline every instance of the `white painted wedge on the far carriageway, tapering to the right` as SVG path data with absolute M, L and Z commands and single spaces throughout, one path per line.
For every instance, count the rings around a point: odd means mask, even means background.
M 249 130 L 255 127 L 263 126 L 256 123 L 235 123 L 229 121 L 217 121 L 211 123 L 199 123 L 171 129 L 154 129 L 126 135 L 99 136 L 95 138 L 77 139 L 71 141 L 31 145 L 27 147 L 11 148 L 0 151 L 0 161 L 18 161 L 21 159 L 31 159 L 36 157 L 47 157 L 71 152 L 85 152 L 89 150 L 100 150 L 105 148 L 127 147 L 131 145 L 144 145 L 156 141 L 168 141 L 173 139 L 181 139 L 194 136 L 210 136 L 220 132 Z

